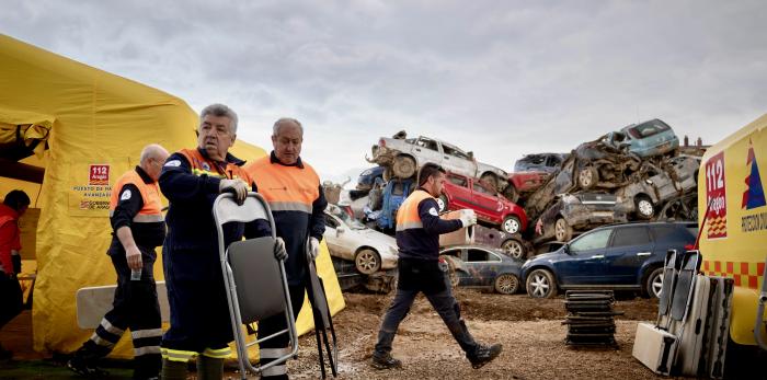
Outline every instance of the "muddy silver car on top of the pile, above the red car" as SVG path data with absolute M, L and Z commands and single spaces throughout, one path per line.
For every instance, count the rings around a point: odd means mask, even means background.
M 373 158 L 367 160 L 387 168 L 385 180 L 391 176 L 409 179 L 427 162 L 453 173 L 479 179 L 499 192 L 506 187 L 508 177 L 508 173 L 501 168 L 477 162 L 471 152 L 425 136 L 407 138 L 404 131 L 393 138 L 381 137 L 378 145 L 373 146 Z

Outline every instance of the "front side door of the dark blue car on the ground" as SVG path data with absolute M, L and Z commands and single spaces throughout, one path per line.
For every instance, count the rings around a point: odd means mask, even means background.
M 604 284 L 605 250 L 613 229 L 586 232 L 566 245 L 566 256 L 554 262 L 557 279 L 562 285 Z

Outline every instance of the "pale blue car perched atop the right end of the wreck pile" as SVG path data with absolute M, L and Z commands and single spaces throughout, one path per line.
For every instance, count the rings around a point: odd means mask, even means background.
M 629 145 L 629 151 L 642 158 L 660 156 L 679 148 L 679 138 L 674 130 L 657 118 L 632 124 L 620 130 L 626 135 L 623 142 Z

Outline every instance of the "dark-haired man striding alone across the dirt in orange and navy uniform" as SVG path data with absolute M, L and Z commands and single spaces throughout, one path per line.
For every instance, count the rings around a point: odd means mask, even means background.
M 436 197 L 442 194 L 445 170 L 427 163 L 419 173 L 419 188 L 397 211 L 397 245 L 400 247 L 397 295 L 384 315 L 378 343 L 373 353 L 373 366 L 378 369 L 399 368 L 402 361 L 391 356 L 391 343 L 400 322 L 408 315 L 419 292 L 423 292 L 445 325 L 466 353 L 473 368 L 480 368 L 501 354 L 500 344 L 486 346 L 469 334 L 460 318 L 460 308 L 447 286 L 439 267 L 439 234 L 477 223 L 473 210 L 461 210 L 460 219 L 443 220 Z

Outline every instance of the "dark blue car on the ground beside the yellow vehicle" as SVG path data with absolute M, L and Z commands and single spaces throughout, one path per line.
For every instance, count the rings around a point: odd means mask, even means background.
M 558 289 L 639 290 L 660 297 L 666 251 L 695 243 L 695 222 L 643 222 L 604 226 L 522 266 L 533 298 L 552 298 Z

